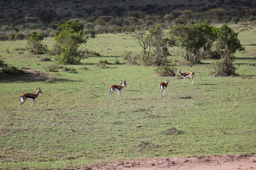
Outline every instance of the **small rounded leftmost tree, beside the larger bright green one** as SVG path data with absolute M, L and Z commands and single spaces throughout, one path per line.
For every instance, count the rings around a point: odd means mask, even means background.
M 26 49 L 33 54 L 43 54 L 47 51 L 47 46 L 43 45 L 43 35 L 33 32 L 28 35 L 28 46 Z

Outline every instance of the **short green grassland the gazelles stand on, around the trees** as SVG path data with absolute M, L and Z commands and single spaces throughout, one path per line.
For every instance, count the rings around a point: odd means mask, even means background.
M 26 40 L 0 42 L 1 59 L 15 67 L 40 70 L 51 77 L 0 75 L 0 169 L 68 169 L 91 163 L 148 157 L 247 154 L 256 152 L 256 28 L 240 31 L 245 52 L 235 54 L 238 77 L 210 75 L 216 60 L 193 67 L 178 64 L 181 54 L 170 48 L 169 60 L 183 72 L 195 72 L 183 84 L 177 77 L 156 77 L 156 67 L 123 63 L 124 51 L 141 49 L 132 34 L 102 34 L 87 42 L 90 56 L 78 73 L 46 72 L 53 64 L 41 62 L 24 48 Z M 44 42 L 49 48 L 53 38 Z M 110 62 L 102 69 L 100 60 Z M 85 69 L 85 67 L 87 69 Z M 123 99 L 107 99 L 109 86 L 127 80 Z M 170 80 L 166 96 L 158 84 Z M 43 91 L 18 112 L 19 96 Z

